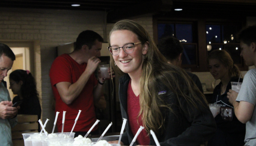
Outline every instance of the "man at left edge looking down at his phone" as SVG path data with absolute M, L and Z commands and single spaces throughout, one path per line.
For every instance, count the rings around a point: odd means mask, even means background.
M 15 55 L 9 46 L 0 43 L 0 143 L 1 146 L 13 146 L 11 128 L 17 124 L 20 106 L 12 107 L 9 92 L 2 81 L 12 68 Z

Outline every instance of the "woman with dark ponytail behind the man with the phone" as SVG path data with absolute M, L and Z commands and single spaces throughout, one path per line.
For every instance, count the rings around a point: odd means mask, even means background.
M 29 70 L 14 70 L 9 75 L 10 89 L 14 95 L 13 104 L 22 101 L 18 114 L 37 115 L 37 119 L 41 118 L 41 106 L 37 85 L 34 77 Z M 40 124 L 38 124 L 40 131 Z

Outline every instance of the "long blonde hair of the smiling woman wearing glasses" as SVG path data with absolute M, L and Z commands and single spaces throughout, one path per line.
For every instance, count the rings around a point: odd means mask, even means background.
M 184 97 L 189 107 L 196 107 L 197 109 L 199 109 L 199 106 L 206 107 L 207 101 L 192 79 L 181 68 L 167 63 L 167 60 L 159 52 L 151 36 L 140 24 L 132 20 L 118 21 L 112 27 L 109 38 L 111 33 L 116 30 L 129 30 L 135 33 L 138 36 L 138 40 L 142 43 L 148 42 L 148 51 L 145 54 L 145 60 L 142 64 L 139 83 L 139 116 L 141 116 L 143 125 L 148 133 L 150 129 L 157 134 L 163 133 L 165 114 L 162 114 L 161 109 L 168 109 L 169 112 L 175 113 L 171 105 L 168 105 L 165 101 L 166 99 L 159 97 L 159 83 L 162 83 L 172 91 L 172 95 L 179 101 L 180 109 L 185 113 L 190 114 L 192 111 L 182 106 L 180 97 Z M 114 66 L 112 55 L 111 63 Z M 117 66 L 114 66 L 114 70 L 115 72 L 123 73 Z

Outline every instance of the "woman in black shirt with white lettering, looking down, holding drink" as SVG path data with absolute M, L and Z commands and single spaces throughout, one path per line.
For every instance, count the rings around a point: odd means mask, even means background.
M 220 113 L 215 117 L 217 132 L 208 141 L 208 146 L 243 146 L 246 125 L 237 119 L 234 106 L 227 98 L 231 82 L 238 82 L 241 72 L 225 50 L 212 51 L 207 63 L 214 79 L 221 81 L 213 91 L 211 102 L 221 105 Z M 240 78 L 239 82 L 243 82 L 243 79 Z

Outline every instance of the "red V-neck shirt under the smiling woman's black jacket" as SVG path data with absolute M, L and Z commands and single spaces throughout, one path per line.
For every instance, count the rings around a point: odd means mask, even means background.
M 140 112 L 140 100 L 139 95 L 136 96 L 131 89 L 131 80 L 128 84 L 127 90 L 127 114 L 128 114 L 128 124 L 131 128 L 133 136 L 136 135 L 140 126 L 143 126 L 141 121 L 141 116 L 138 117 Z M 137 122 L 138 119 L 138 122 Z M 138 124 L 139 123 L 139 124 Z M 138 135 L 136 142 L 139 145 L 148 146 L 149 136 L 145 129 L 142 129 L 141 133 Z

